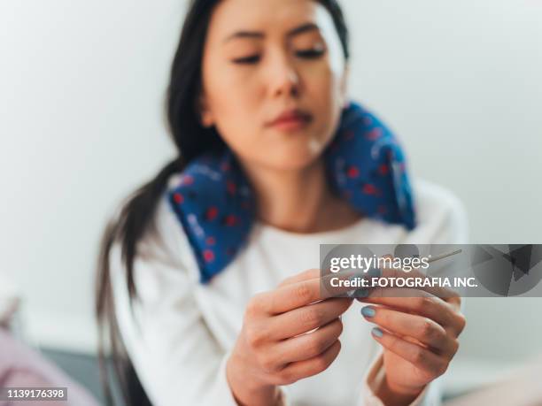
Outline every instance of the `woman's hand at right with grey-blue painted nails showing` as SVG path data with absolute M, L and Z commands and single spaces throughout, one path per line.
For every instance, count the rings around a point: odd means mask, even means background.
M 371 303 L 362 314 L 377 325 L 373 337 L 383 346 L 385 382 L 376 395 L 385 404 L 409 404 L 446 371 L 459 349 L 466 324 L 461 297 L 439 287 L 376 287 L 357 300 Z

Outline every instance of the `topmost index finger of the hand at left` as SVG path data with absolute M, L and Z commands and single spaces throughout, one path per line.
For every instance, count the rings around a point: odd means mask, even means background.
M 310 303 L 315 303 L 329 297 L 345 295 L 352 287 L 329 287 L 329 280 L 350 280 L 352 272 L 325 275 L 318 279 L 301 280 L 290 285 L 278 287 L 261 295 L 264 311 L 268 314 L 280 314 L 297 309 Z

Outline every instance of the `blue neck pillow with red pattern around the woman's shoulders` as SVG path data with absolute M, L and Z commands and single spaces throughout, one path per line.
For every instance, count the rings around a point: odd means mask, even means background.
M 415 227 L 412 190 L 398 141 L 360 104 L 341 114 L 323 152 L 331 187 L 368 218 Z M 224 270 L 246 245 L 255 220 L 250 184 L 230 149 L 192 160 L 167 192 L 197 258 L 200 281 Z

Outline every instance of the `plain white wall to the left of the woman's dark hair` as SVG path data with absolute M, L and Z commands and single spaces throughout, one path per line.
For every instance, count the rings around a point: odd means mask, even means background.
M 105 218 L 172 153 L 162 102 L 183 9 L 0 3 L 2 271 L 23 289 L 36 341 L 94 348 Z

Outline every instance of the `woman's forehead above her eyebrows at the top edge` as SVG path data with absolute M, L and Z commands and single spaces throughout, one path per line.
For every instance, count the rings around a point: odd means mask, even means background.
M 306 23 L 314 23 L 324 35 L 334 32 L 329 11 L 315 0 L 222 0 L 213 11 L 208 37 L 224 41 L 241 30 L 286 35 Z

